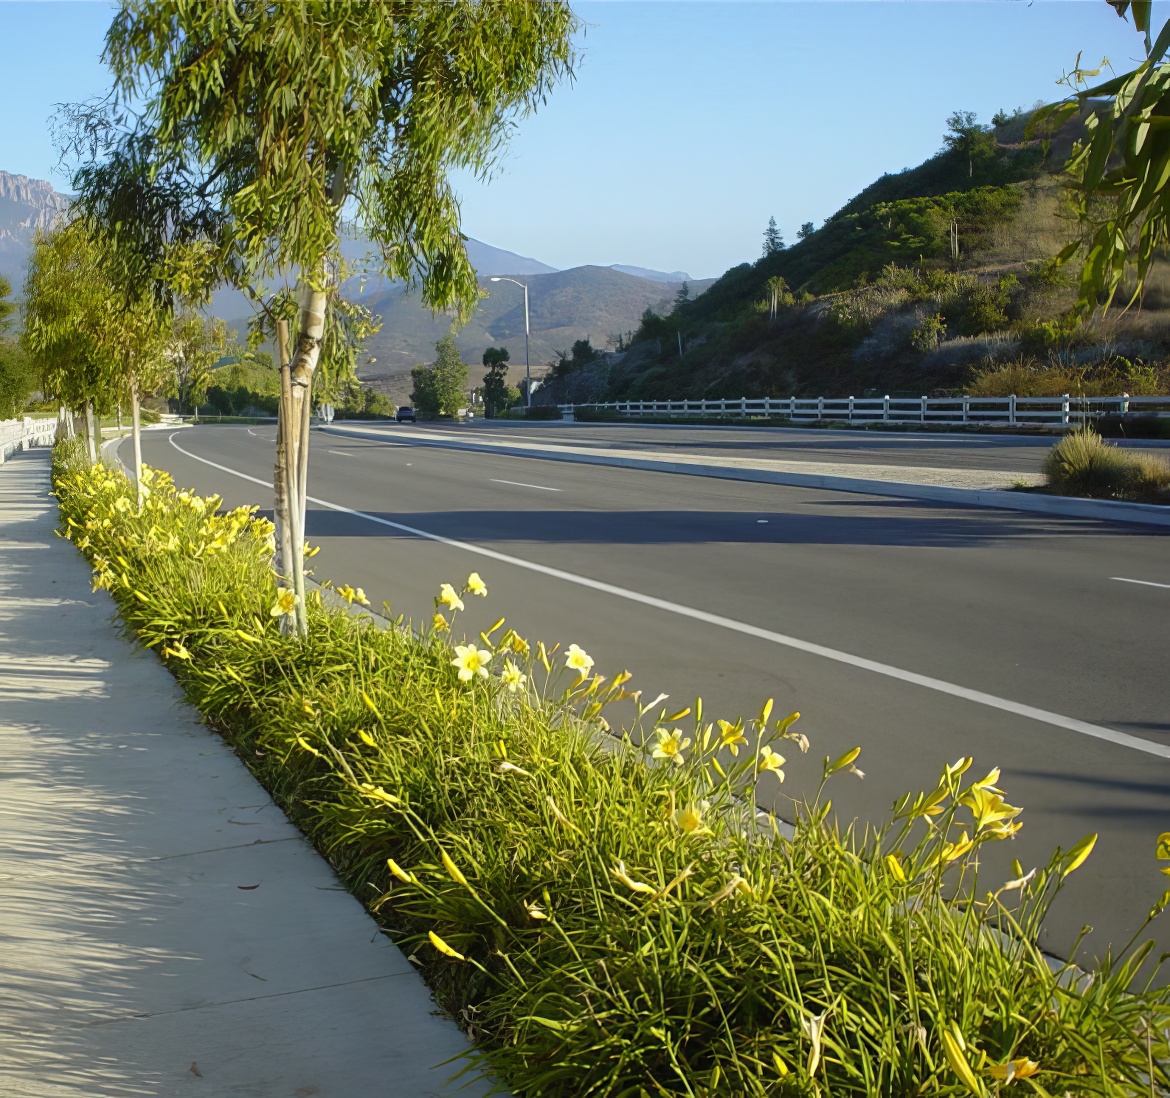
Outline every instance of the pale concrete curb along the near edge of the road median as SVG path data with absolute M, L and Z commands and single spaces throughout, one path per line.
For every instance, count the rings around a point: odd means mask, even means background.
M 330 434 L 353 438 L 388 439 L 383 431 L 362 427 L 328 426 Z M 1031 495 L 1005 492 L 1000 488 L 948 488 L 941 485 L 914 485 L 893 480 L 866 480 L 855 476 L 828 476 L 820 473 L 789 473 L 772 469 L 737 468 L 724 465 L 700 465 L 689 461 L 658 461 L 651 458 L 624 458 L 611 454 L 577 454 L 539 451 L 523 446 L 497 446 L 463 440 L 434 440 L 412 438 L 413 446 L 433 446 L 439 450 L 464 450 L 473 453 L 505 454 L 511 458 L 537 458 L 543 461 L 567 461 L 573 465 L 610 465 L 619 468 L 646 469 L 652 473 L 681 473 L 688 476 L 715 476 L 722 480 L 746 480 L 793 488 L 820 488 L 826 492 L 856 492 L 865 495 L 885 495 L 903 500 L 923 500 L 931 503 L 952 503 L 958 507 L 992 507 L 998 510 L 1025 510 L 1041 515 L 1062 515 L 1071 519 L 1099 519 L 1106 522 L 1129 522 L 1143 526 L 1170 527 L 1170 508 L 1156 503 L 1122 503 L 1115 500 L 1080 500 L 1060 495 Z

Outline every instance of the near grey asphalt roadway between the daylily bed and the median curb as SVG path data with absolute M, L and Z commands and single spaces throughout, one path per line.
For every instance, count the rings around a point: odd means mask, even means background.
M 229 506 L 264 507 L 273 435 L 149 432 L 144 457 Z M 1009 857 L 1027 870 L 1101 832 L 1053 912 L 1053 952 L 1086 922 L 1094 951 L 1120 945 L 1161 893 L 1166 535 L 410 439 L 408 428 L 385 441 L 314 432 L 319 578 L 421 619 L 441 582 L 475 569 L 490 597 L 468 601 L 469 632 L 505 615 L 529 638 L 580 644 L 598 670 L 628 667 L 648 696 L 701 694 L 711 716 L 752 715 L 775 696 L 779 712 L 804 714 L 812 740 L 806 757 L 785 753 L 782 812 L 784 796 L 815 787 L 820 757 L 854 744 L 866 776 L 841 775 L 832 790 L 845 817 L 881 818 L 963 755 L 1002 767 L 1025 826 L 985 860 L 990 884 Z M 1166 927 L 1156 936 L 1170 948 Z

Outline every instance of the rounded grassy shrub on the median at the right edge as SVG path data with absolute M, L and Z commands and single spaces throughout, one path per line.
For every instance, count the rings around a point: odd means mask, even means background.
M 1060 495 L 1161 501 L 1170 464 L 1154 454 L 1120 450 L 1095 431 L 1066 434 L 1044 459 L 1048 488 Z

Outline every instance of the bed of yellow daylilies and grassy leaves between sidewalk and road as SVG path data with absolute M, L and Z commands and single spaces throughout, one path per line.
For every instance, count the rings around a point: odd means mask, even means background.
M 453 644 L 475 574 L 422 633 L 343 586 L 349 612 L 312 596 L 308 637 L 287 636 L 271 526 L 145 480 L 138 512 L 121 473 L 60 446 L 62 531 L 474 1038 L 453 1072 L 521 1096 L 1166 1092 L 1150 947 L 1089 976 L 1035 946 L 1093 837 L 980 877 L 1021 825 L 998 773 L 959 760 L 882 826 L 845 825 L 827 794 L 858 752 L 814 762 L 797 714 L 665 712 L 502 622 Z M 618 701 L 645 742 L 606 722 Z M 811 766 L 794 829 L 757 811 L 758 783 Z

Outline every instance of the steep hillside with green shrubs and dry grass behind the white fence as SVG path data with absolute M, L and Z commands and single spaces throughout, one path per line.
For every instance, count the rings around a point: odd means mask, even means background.
M 1081 123 L 1028 122 L 957 112 L 936 156 L 702 296 L 648 309 L 628 350 L 555 371 L 539 399 L 1170 391 L 1164 265 L 1131 309 L 1069 320 L 1076 270 L 1053 260 Z

